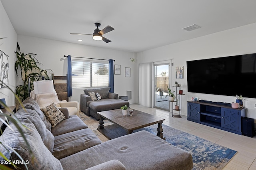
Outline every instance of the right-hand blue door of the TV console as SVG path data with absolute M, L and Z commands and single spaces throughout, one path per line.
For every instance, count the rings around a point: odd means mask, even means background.
M 221 115 L 221 127 L 238 131 L 238 110 L 222 108 Z

